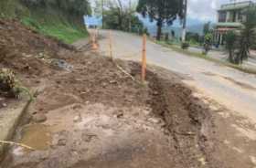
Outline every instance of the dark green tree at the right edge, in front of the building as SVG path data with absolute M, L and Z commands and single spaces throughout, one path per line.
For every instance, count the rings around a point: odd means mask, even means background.
M 244 14 L 246 19 L 240 29 L 239 52 L 235 59 L 236 64 L 241 64 L 244 59 L 249 58 L 250 48 L 255 45 L 256 39 L 256 7 L 250 7 Z

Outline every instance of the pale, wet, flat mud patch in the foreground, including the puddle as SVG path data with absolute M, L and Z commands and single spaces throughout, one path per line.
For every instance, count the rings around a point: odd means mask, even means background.
M 29 124 L 5 168 L 170 167 L 175 149 L 163 121 L 141 108 L 75 104 L 48 112 L 44 124 Z M 172 153 L 172 154 L 171 154 Z

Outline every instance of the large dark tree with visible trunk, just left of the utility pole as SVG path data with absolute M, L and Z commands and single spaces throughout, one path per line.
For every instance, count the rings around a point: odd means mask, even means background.
M 177 16 L 183 18 L 183 7 L 183 0 L 139 0 L 137 12 L 156 21 L 156 39 L 160 40 L 165 24 L 172 25 Z

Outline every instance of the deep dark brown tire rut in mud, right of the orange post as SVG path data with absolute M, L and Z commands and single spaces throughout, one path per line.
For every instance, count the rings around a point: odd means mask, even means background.
M 140 72 L 137 64 L 132 67 L 133 75 Z M 175 142 L 177 167 L 221 167 L 210 154 L 214 124 L 208 105 L 178 78 L 166 79 L 148 70 L 147 81 L 153 113 L 165 121 L 166 133 Z

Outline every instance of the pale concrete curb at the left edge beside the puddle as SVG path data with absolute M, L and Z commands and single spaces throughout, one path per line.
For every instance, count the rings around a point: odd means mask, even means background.
M 16 127 L 27 111 L 31 100 L 22 101 L 15 105 L 13 108 L 4 108 L 0 110 L 0 140 L 9 141 L 15 131 Z M 8 145 L 0 143 L 0 162 L 4 159 L 5 151 Z

